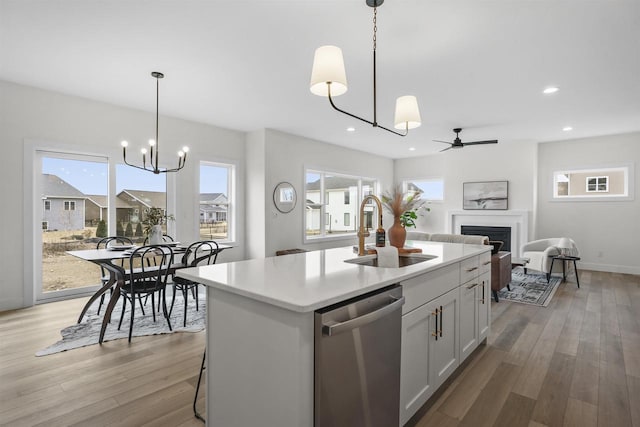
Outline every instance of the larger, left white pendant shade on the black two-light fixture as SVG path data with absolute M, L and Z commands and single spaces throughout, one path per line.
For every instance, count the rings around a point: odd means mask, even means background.
M 321 46 L 316 49 L 311 71 L 311 93 L 328 96 L 327 82 L 331 82 L 331 96 L 342 95 L 347 91 L 347 74 L 344 70 L 342 49 L 337 46 Z

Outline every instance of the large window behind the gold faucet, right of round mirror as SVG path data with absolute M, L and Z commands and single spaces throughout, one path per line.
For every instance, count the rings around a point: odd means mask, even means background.
M 353 236 L 360 201 L 365 195 L 376 194 L 376 189 L 377 181 L 370 178 L 307 170 L 305 239 Z M 375 205 L 367 204 L 365 218 L 372 217 L 374 209 Z

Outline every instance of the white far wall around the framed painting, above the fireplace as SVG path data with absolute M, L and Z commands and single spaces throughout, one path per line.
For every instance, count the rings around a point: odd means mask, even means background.
M 534 206 L 532 182 L 536 176 L 535 144 L 495 144 L 448 150 L 429 156 L 395 160 L 395 181 L 444 179 L 444 202 L 429 204 L 431 212 L 418 219 L 417 229 L 450 233 L 447 212 L 462 209 L 462 184 L 472 181 L 509 181 L 509 210 L 529 212 L 529 235 Z

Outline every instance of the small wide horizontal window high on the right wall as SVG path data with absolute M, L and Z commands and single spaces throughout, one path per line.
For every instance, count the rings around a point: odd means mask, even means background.
M 631 199 L 632 176 L 632 166 L 555 171 L 553 198 L 556 200 Z

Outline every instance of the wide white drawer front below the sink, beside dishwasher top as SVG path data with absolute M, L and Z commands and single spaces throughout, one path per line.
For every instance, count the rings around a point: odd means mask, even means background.
M 405 303 L 402 314 L 408 313 L 440 295 L 458 287 L 460 271 L 457 264 L 400 282 Z

